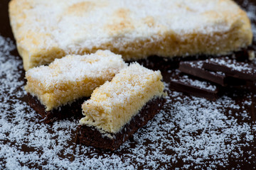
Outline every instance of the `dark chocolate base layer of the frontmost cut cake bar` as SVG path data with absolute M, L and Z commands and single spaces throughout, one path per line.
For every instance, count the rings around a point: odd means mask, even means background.
M 80 132 L 78 133 L 78 143 L 113 151 L 122 145 L 123 142 L 128 140 L 139 128 L 146 125 L 151 118 L 154 118 L 154 115 L 160 111 L 165 101 L 164 98 L 154 98 L 147 102 L 142 110 L 137 115 L 134 115 L 132 120 L 124 125 L 124 127 L 122 127 L 116 134 L 101 133 L 94 127 L 79 125 Z M 107 137 L 107 135 L 111 135 L 112 137 Z

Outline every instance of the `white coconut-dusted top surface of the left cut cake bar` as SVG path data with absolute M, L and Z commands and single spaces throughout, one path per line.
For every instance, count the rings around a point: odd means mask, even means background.
M 116 74 L 126 66 L 121 55 L 115 55 L 109 50 L 98 50 L 91 55 L 68 55 L 56 59 L 49 66 L 30 69 L 26 74 L 42 83 L 44 88 L 54 89 L 54 86 L 68 81 L 107 79 L 105 77 L 110 77 L 109 74 Z

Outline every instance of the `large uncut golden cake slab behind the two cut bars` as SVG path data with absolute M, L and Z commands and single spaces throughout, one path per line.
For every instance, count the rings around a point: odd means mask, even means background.
M 252 42 L 250 20 L 231 0 L 12 0 L 11 28 L 24 69 L 68 54 L 224 55 Z

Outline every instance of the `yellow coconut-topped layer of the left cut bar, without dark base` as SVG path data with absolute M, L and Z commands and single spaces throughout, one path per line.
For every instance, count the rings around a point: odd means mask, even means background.
M 25 89 L 40 101 L 37 103 L 44 106 L 47 114 L 78 98 L 89 97 L 97 86 L 110 81 L 125 67 L 127 64 L 121 55 L 109 50 L 98 50 L 91 55 L 68 55 L 49 66 L 28 70 Z

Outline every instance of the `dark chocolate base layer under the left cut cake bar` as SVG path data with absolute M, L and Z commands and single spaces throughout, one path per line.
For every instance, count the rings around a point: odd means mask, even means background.
M 71 103 L 70 105 L 60 106 L 57 109 L 51 111 L 46 111 L 45 106 L 36 98 L 36 96 L 31 96 L 28 94 L 28 104 L 37 113 L 43 117 L 44 123 L 53 123 L 55 120 L 62 120 L 64 118 L 70 118 L 75 116 L 76 118 L 82 118 L 82 103 L 88 98 L 80 98 L 77 101 Z

